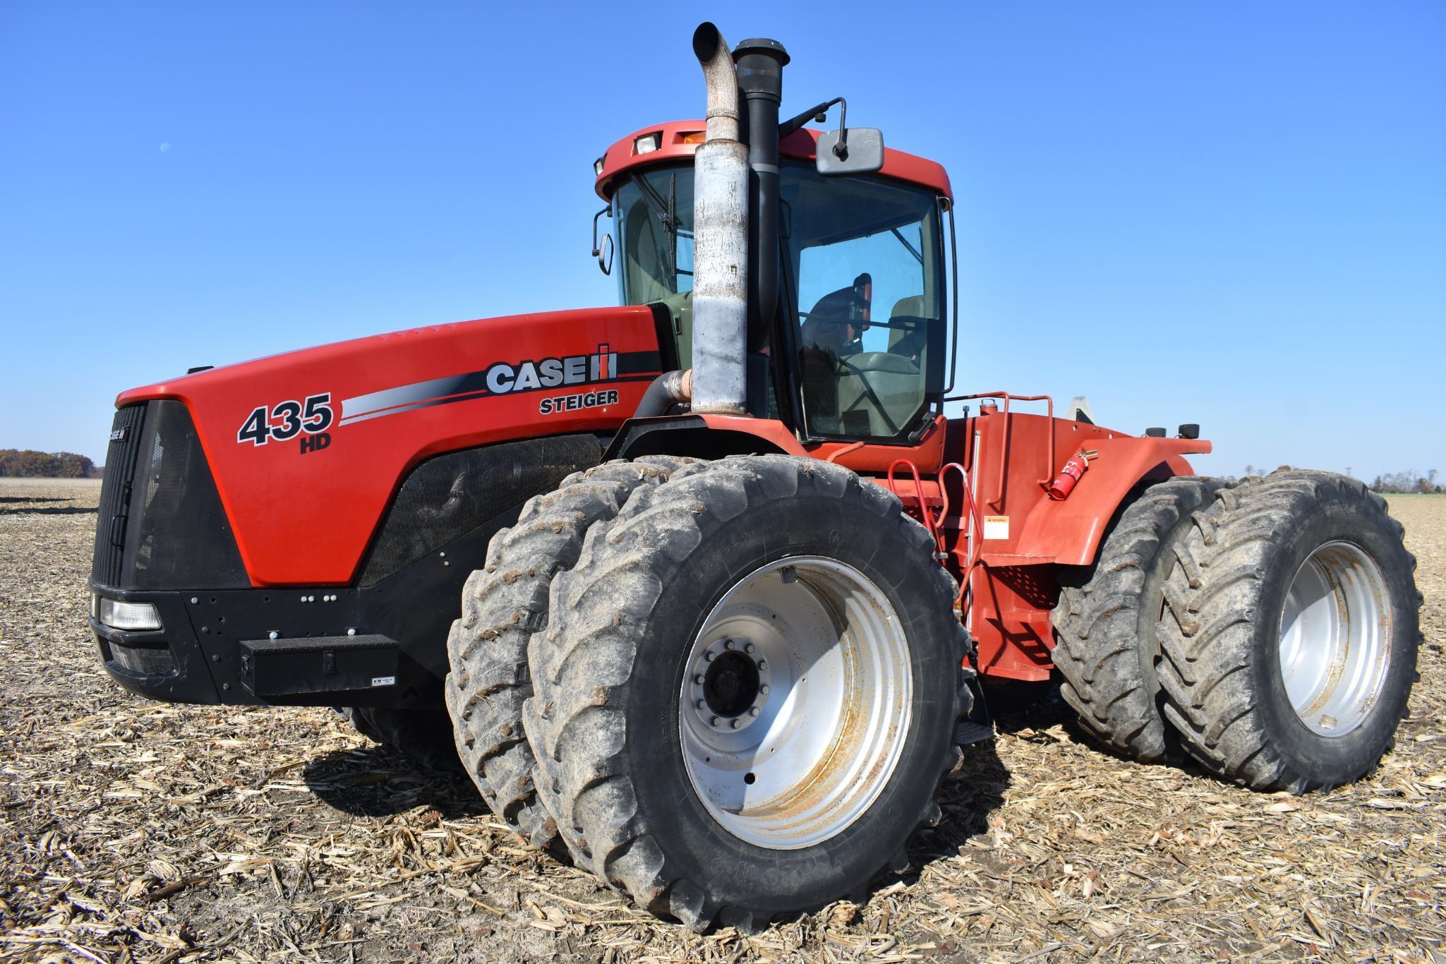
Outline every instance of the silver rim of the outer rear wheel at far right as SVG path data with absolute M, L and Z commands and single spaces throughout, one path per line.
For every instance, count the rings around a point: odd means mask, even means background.
M 1296 572 L 1280 617 L 1280 673 L 1312 733 L 1340 737 L 1371 715 L 1391 668 L 1381 569 L 1351 542 L 1327 542 Z

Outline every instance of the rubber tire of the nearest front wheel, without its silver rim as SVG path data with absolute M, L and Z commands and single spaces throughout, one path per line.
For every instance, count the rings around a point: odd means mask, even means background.
M 593 526 L 577 565 L 552 582 L 551 606 L 567 619 L 532 637 L 525 715 L 538 792 L 574 861 L 696 929 L 714 919 L 761 926 L 862 896 L 881 869 L 902 870 L 908 837 L 940 817 L 934 792 L 959 759 L 954 721 L 969 700 L 954 582 L 931 552 L 928 533 L 882 487 L 784 455 L 687 467 Z M 680 711 L 694 708 L 681 688 L 697 682 L 690 647 L 714 606 L 790 558 L 856 567 L 886 594 L 911 702 L 878 796 L 833 835 L 775 848 L 735 835 L 709 811 L 684 760 Z

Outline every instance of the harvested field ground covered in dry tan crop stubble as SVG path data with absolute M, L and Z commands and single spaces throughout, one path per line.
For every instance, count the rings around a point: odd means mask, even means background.
M 698 937 L 523 848 L 463 776 L 330 710 L 147 702 L 85 630 L 94 483 L 0 480 L 0 958 L 1440 960 L 1446 497 L 1392 497 L 1421 678 L 1353 786 L 1259 795 L 1106 756 L 1057 698 L 1002 714 L 914 870 Z

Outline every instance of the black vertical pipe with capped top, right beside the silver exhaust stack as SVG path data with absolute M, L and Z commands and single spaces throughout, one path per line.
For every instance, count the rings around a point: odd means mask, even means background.
M 748 350 L 768 341 L 778 314 L 778 106 L 788 51 L 755 38 L 733 48 L 737 88 L 746 101 L 748 143 Z

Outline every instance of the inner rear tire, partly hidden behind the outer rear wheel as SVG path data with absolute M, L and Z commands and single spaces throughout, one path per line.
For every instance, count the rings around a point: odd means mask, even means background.
M 1174 736 L 1160 715 L 1155 679 L 1173 545 L 1222 484 L 1178 477 L 1148 486 L 1111 526 L 1095 565 L 1061 571 L 1053 616 L 1060 695 L 1090 736 L 1142 763 L 1164 760 Z

